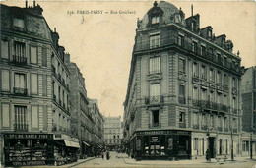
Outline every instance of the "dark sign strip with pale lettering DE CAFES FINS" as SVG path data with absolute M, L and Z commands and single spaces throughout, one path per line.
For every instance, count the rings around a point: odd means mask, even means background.
M 52 135 L 47 134 L 5 134 L 5 139 L 52 139 Z

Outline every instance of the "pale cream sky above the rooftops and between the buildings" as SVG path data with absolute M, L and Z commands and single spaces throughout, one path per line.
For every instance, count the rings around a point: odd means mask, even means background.
M 193 4 L 194 15 L 200 14 L 200 28 L 212 26 L 216 36 L 225 34 L 226 39 L 231 39 L 234 44 L 233 52 L 239 50 L 242 66 L 256 66 L 255 2 L 168 2 L 181 7 L 186 18 L 191 16 Z M 25 7 L 25 1 L 1 3 Z M 88 97 L 98 99 L 99 110 L 106 117 L 123 115 L 137 18 L 142 19 L 153 3 L 36 1 L 43 8 L 49 27 L 57 29 L 59 44 L 80 68 Z M 32 6 L 32 1 L 28 5 Z M 119 11 L 133 14 L 119 14 Z

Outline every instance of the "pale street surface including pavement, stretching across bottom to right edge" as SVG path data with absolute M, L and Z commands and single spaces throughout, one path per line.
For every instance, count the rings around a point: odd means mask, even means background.
M 180 161 L 167 161 L 167 160 L 143 160 L 135 161 L 130 159 L 124 153 L 110 152 L 110 160 L 102 158 L 95 158 L 81 164 L 76 164 L 67 167 L 187 167 L 187 168 L 198 168 L 198 167 L 216 167 L 216 168 L 256 168 L 256 160 L 250 161 L 249 159 L 242 158 L 234 162 L 211 162 L 207 163 L 205 160 L 180 160 Z

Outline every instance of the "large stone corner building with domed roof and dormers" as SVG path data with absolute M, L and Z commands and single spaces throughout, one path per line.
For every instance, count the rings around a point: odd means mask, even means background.
M 124 142 L 136 159 L 241 154 L 243 67 L 231 40 L 160 1 L 137 21 Z M 233 148 L 233 150 L 232 150 Z

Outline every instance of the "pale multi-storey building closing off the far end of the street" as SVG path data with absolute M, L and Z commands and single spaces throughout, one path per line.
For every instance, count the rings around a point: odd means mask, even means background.
M 118 150 L 122 145 L 121 116 L 104 117 L 104 138 L 108 150 Z

